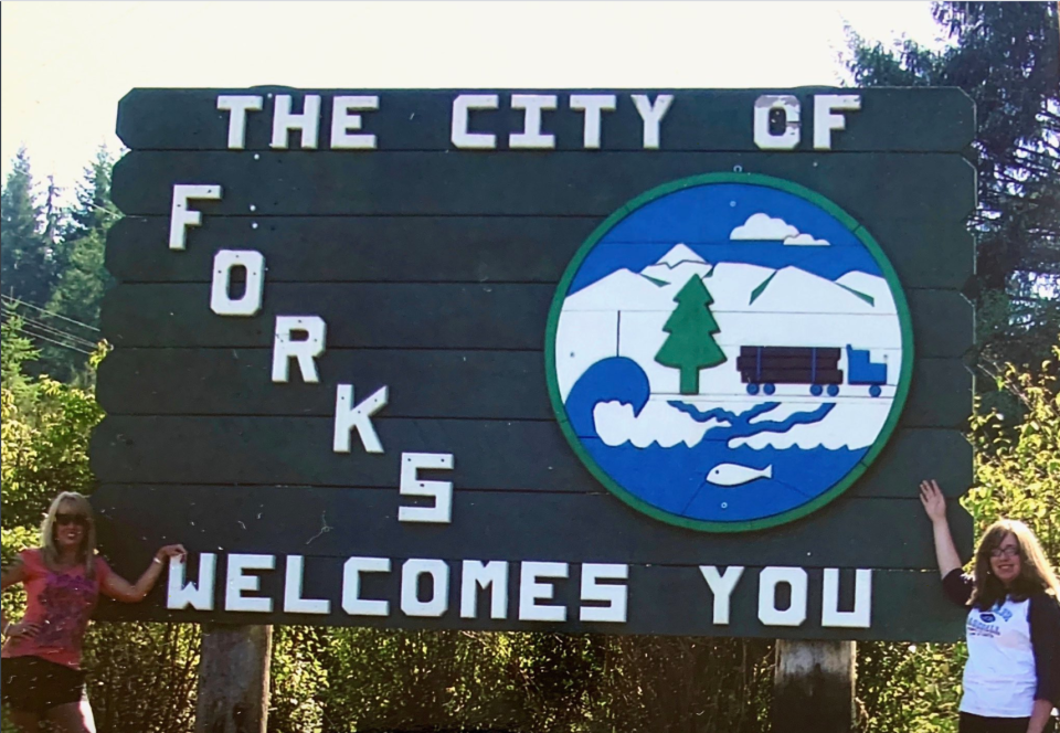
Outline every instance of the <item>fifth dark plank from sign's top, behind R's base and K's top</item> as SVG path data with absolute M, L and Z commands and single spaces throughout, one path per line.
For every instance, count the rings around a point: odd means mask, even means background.
M 123 349 L 99 365 L 99 404 L 109 415 L 331 416 L 336 385 L 353 382 L 364 394 L 389 386 L 389 417 L 554 417 L 540 351 L 329 349 L 319 383 L 282 386 L 272 362 L 271 349 Z M 922 359 L 901 424 L 964 428 L 971 393 L 960 359 Z

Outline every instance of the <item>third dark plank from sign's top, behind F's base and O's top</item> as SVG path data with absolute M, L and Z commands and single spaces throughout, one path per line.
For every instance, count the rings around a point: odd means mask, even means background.
M 107 234 L 107 269 L 125 283 L 209 283 L 218 249 L 251 248 L 265 256 L 269 283 L 555 284 L 603 220 L 273 216 L 253 229 L 254 221 L 206 216 L 190 235 L 194 245 L 176 256 L 167 217 L 126 216 Z M 972 276 L 972 235 L 961 221 L 900 215 L 873 222 L 871 234 L 907 288 L 961 289 Z

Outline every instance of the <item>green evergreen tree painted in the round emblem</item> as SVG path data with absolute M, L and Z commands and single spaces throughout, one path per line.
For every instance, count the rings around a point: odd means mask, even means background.
M 670 336 L 655 354 L 655 360 L 664 366 L 681 370 L 681 394 L 698 394 L 699 370 L 725 361 L 725 354 L 713 338 L 721 331 L 710 312 L 713 301 L 703 280 L 692 275 L 675 296 L 677 308 L 662 327 Z

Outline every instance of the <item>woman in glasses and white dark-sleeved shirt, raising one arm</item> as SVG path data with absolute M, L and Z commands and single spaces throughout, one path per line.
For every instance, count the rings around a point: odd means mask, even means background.
M 920 485 L 931 519 L 946 595 L 969 607 L 968 661 L 961 698 L 961 733 L 1043 733 L 1060 705 L 1060 582 L 1038 539 L 1022 522 L 990 525 L 975 551 L 972 575 L 946 520 L 935 481 Z

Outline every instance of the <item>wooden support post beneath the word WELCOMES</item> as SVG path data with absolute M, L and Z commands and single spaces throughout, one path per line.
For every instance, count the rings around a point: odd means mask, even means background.
M 265 733 L 273 627 L 202 629 L 195 733 Z

